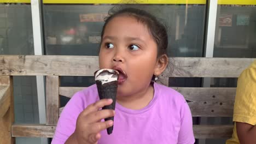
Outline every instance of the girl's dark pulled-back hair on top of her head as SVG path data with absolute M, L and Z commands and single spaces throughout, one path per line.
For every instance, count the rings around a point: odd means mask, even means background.
M 153 39 L 155 40 L 156 45 L 158 46 L 158 57 L 161 55 L 167 55 L 167 46 L 168 46 L 168 35 L 164 25 L 160 23 L 155 16 L 149 14 L 147 11 L 136 9 L 136 8 L 124 8 L 118 11 L 109 10 L 108 17 L 104 19 L 105 23 L 101 32 L 101 39 L 104 34 L 104 30 L 108 25 L 108 22 L 111 21 L 114 17 L 117 16 L 131 16 L 137 19 L 139 22 L 142 22 L 149 29 L 149 32 L 152 34 Z M 102 42 L 102 41 L 101 41 Z

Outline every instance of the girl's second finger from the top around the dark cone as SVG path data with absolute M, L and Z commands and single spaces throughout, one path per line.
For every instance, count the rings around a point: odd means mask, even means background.
M 101 119 L 113 117 L 114 115 L 115 115 L 114 110 L 100 110 L 96 112 L 91 112 L 88 115 L 86 115 L 86 122 L 88 124 L 96 123 L 96 122 L 100 122 Z

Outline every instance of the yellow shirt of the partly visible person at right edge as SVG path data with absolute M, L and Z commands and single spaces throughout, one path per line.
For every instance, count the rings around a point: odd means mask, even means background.
M 256 60 L 238 78 L 233 121 L 256 125 Z M 237 143 L 240 142 L 235 124 L 232 138 L 226 144 Z

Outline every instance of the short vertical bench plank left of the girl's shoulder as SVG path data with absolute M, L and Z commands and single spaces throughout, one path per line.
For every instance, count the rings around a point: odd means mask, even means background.
M 46 125 L 56 125 L 59 119 L 59 76 L 46 76 Z

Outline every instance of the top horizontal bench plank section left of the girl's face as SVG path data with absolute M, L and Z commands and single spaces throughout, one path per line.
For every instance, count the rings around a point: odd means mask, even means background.
M 91 76 L 97 69 L 96 56 L 0 56 L 0 75 Z

